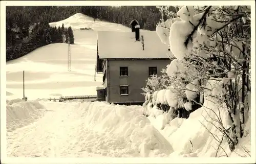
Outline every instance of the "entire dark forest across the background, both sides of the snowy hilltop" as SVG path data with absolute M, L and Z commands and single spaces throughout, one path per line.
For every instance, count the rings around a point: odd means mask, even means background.
M 76 13 L 130 27 L 133 19 L 141 29 L 155 30 L 161 19 L 156 6 L 8 6 L 6 7 L 6 60 L 28 54 L 40 46 L 62 42 L 62 34 L 70 36 L 73 31 L 52 28 L 49 22 L 66 19 Z

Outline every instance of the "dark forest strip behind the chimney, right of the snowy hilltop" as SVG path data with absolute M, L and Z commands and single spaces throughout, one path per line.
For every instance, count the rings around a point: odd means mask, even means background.
M 127 27 L 130 27 L 130 22 L 136 19 L 141 29 L 151 31 L 156 30 L 156 25 L 161 19 L 161 13 L 156 6 L 81 6 L 79 12 Z

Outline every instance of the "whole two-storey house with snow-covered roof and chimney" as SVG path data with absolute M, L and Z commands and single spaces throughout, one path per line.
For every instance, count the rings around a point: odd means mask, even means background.
M 145 80 L 161 75 L 162 68 L 170 63 L 170 52 L 157 33 L 139 30 L 139 25 L 136 28 L 134 32 L 97 33 L 97 73 L 103 74 L 106 102 L 141 105 Z

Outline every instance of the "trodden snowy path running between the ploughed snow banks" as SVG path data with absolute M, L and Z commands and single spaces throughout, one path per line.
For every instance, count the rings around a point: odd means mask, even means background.
M 49 105 L 50 104 L 50 105 Z M 46 104 L 44 104 L 46 105 Z M 138 157 L 123 138 L 84 124 L 79 103 L 48 103 L 36 122 L 7 132 L 8 157 Z

